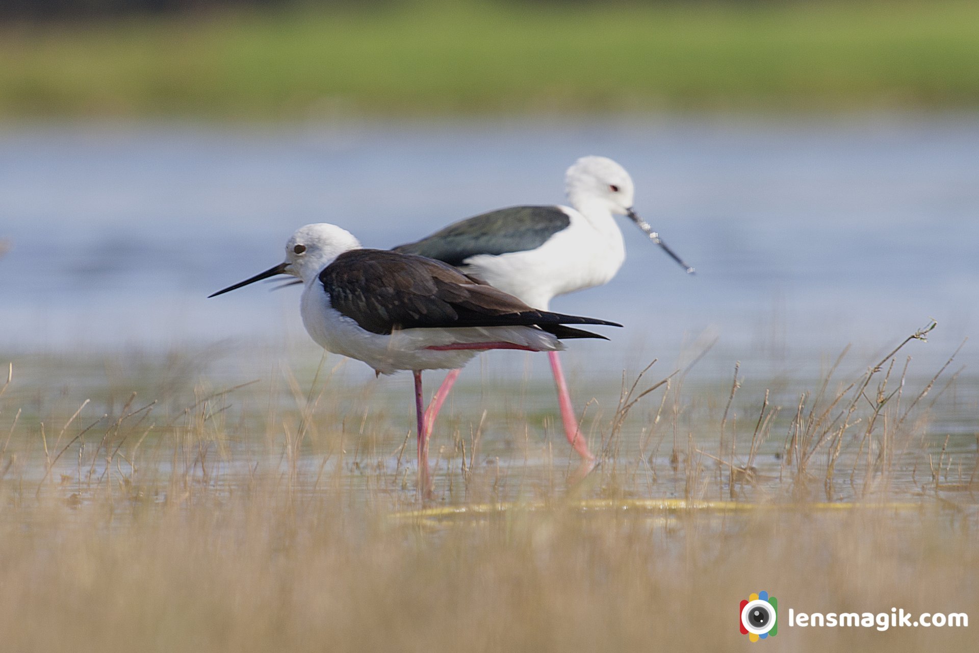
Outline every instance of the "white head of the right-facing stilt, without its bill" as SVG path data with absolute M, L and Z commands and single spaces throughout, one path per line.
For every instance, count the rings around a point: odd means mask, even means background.
M 575 209 L 628 215 L 635 189 L 632 177 L 607 157 L 582 157 L 565 173 L 565 192 Z

